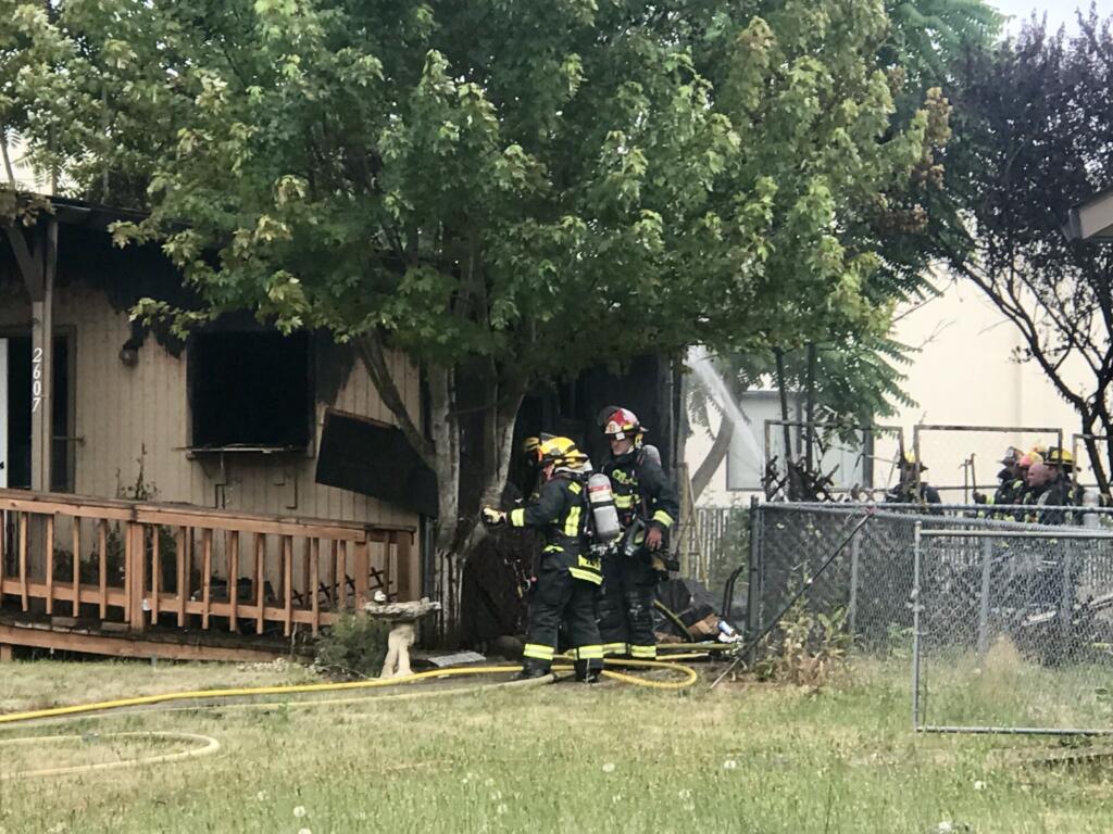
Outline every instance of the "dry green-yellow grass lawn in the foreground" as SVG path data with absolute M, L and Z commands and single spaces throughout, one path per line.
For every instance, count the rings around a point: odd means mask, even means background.
M 297 668 L 14 663 L 0 668 L 0 712 L 307 676 Z M 907 677 L 905 663 L 870 664 L 819 693 L 760 685 L 708 692 L 706 679 L 680 693 L 568 683 L 0 727 L 0 739 L 86 734 L 0 745 L 0 773 L 197 744 L 108 733 L 170 731 L 221 744 L 205 758 L 0 781 L 0 832 L 702 834 L 936 832 L 949 824 L 1080 834 L 1113 827 L 1113 768 L 1014 762 L 1017 751 L 1060 749 L 1054 741 L 915 736 Z

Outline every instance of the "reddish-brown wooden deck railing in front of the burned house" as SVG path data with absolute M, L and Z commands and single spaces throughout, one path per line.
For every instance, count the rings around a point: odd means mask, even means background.
M 0 605 L 132 632 L 316 635 L 376 588 L 410 599 L 413 540 L 404 527 L 0 489 Z

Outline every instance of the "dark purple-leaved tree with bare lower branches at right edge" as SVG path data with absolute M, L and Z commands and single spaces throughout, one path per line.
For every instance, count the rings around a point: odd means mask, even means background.
M 948 149 L 963 225 L 939 235 L 951 265 L 1015 326 L 1034 363 L 1087 436 L 1113 436 L 1113 251 L 1071 242 L 1073 205 L 1113 171 L 1113 31 L 1091 10 L 1067 37 L 1031 20 L 958 66 L 957 141 Z M 951 159 L 955 163 L 952 165 Z M 1101 492 L 1110 444 L 1085 441 Z

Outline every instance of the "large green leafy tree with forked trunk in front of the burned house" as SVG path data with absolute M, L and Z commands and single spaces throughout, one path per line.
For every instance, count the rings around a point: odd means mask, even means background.
M 443 554 L 477 535 L 457 522 L 465 381 L 489 394 L 493 495 L 541 381 L 693 342 L 883 335 L 880 259 L 844 232 L 864 206 L 893 214 L 945 122 L 935 97 L 894 122 L 878 0 L 57 8 L 66 52 L 22 103 L 71 119 L 37 147 L 150 209 L 118 236 L 164 240 L 208 305 L 185 324 L 247 307 L 358 348 L 439 476 Z M 38 101 L 58 73 L 71 91 Z M 424 369 L 431 437 L 390 348 Z

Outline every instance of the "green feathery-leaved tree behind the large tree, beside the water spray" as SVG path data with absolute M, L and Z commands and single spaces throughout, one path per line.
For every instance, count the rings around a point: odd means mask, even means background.
M 934 292 L 927 278 L 927 267 L 936 257 L 932 239 L 956 222 L 942 166 L 949 138 L 945 93 L 953 86 L 954 63 L 965 51 L 992 42 L 1001 16 L 983 0 L 887 0 L 885 7 L 889 26 L 877 47 L 876 63 L 895 77 L 890 123 L 899 130 L 926 99 L 933 113 L 932 149 L 912 177 L 896 178 L 871 199 L 841 207 L 838 234 L 846 248 L 873 252 L 878 259 L 864 291 L 876 305 L 897 305 Z M 770 277 L 780 280 L 792 280 L 804 269 L 791 258 L 767 265 Z M 865 425 L 892 416 L 897 406 L 910 405 L 902 390 L 902 368 L 912 361 L 912 349 L 892 334 L 843 329 L 839 324 L 809 326 L 785 334 L 772 345 L 722 353 L 716 358 L 718 373 L 736 397 L 768 385 L 781 388 L 785 400 L 787 391 L 798 394 L 818 415 L 816 419 L 825 423 Z M 709 407 L 719 410 L 713 398 L 696 379 L 688 390 L 690 418 L 712 431 Z M 729 419 L 718 421 L 712 446 L 692 475 L 695 496 L 720 467 L 735 429 Z M 785 446 L 790 448 L 790 440 Z M 809 450 L 795 449 L 794 454 L 799 453 L 802 461 Z

